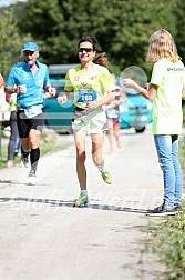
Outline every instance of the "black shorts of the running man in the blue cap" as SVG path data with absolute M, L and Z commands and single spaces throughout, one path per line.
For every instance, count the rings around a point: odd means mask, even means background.
M 24 116 L 23 111 L 17 112 L 17 121 L 18 121 L 18 130 L 20 138 L 29 137 L 29 132 L 31 129 L 35 129 L 42 131 L 45 121 L 44 113 L 40 113 L 32 119 L 29 119 Z

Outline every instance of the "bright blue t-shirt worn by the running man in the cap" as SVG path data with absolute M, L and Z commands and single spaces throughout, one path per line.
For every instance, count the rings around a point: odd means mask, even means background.
M 49 69 L 45 64 L 37 60 L 38 71 L 33 76 L 30 66 L 21 62 L 14 66 L 7 80 L 7 86 L 13 88 L 14 86 L 25 84 L 27 93 L 18 94 L 17 104 L 18 110 L 32 107 L 35 104 L 44 104 L 43 88 L 50 83 Z

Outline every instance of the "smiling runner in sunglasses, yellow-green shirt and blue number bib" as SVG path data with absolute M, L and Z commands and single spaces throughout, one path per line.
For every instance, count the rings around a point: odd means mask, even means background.
M 85 168 L 85 137 L 91 134 L 92 159 L 101 172 L 103 180 L 111 184 L 112 176 L 104 164 L 102 157 L 105 131 L 107 130 L 103 104 L 114 100 L 115 83 L 106 69 L 107 60 L 101 53 L 96 54 L 96 40 L 90 36 L 82 37 L 78 43 L 81 64 L 70 69 L 66 73 L 65 92 L 58 98 L 62 106 L 73 92 L 73 102 L 76 106 L 72 128 L 76 147 L 76 173 L 81 193 L 74 207 L 88 204 L 86 168 Z

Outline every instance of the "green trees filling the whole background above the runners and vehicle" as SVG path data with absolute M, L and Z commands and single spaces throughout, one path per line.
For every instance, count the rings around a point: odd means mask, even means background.
M 28 41 L 39 44 L 40 60 L 47 64 L 79 63 L 76 42 L 85 34 L 97 39 L 97 51 L 107 53 L 110 70 L 117 76 L 126 67 L 137 66 L 150 77 L 147 41 L 161 28 L 173 34 L 185 60 L 184 0 L 168 0 L 167 4 L 166 0 L 28 0 L 0 10 L 4 78 L 22 61 L 21 49 Z

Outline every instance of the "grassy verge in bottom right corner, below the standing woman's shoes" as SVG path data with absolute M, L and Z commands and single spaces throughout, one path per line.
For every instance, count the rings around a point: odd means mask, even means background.
M 167 280 L 184 280 L 185 276 L 185 212 L 166 218 L 153 229 L 154 250 L 167 266 Z

